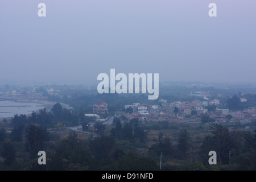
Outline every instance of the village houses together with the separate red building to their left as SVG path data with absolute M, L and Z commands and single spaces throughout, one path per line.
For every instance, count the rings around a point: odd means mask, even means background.
M 247 107 L 243 110 L 223 109 L 224 104 L 214 98 L 208 100 L 209 92 L 199 92 L 198 96 L 203 97 L 205 101 L 175 101 L 168 103 L 167 100 L 160 99 L 158 105 L 147 105 L 134 102 L 131 105 L 125 105 L 125 111 L 115 112 L 115 116 L 131 120 L 137 118 L 139 121 L 176 121 L 176 122 L 201 122 L 200 115 L 207 114 L 215 122 L 250 122 L 255 118 L 256 107 Z M 221 95 L 220 95 L 221 96 Z M 240 98 L 241 102 L 247 102 L 246 98 Z M 101 104 L 95 104 L 93 113 L 100 115 L 108 114 L 108 104 L 102 101 Z M 100 121 L 100 120 L 99 120 Z

